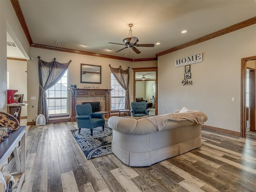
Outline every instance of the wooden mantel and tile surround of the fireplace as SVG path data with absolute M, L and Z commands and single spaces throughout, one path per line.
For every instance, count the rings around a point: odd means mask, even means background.
M 110 99 L 112 89 L 70 89 L 71 117 L 70 121 L 76 121 L 76 104 L 82 102 L 100 102 L 102 111 L 110 111 Z

